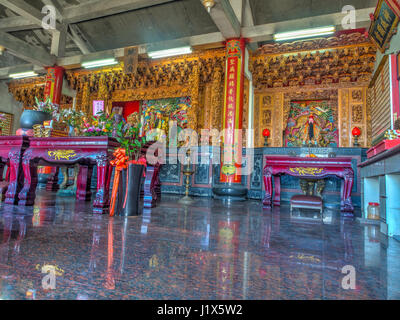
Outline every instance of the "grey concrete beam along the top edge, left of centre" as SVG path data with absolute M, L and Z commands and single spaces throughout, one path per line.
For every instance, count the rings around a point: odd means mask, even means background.
M 172 1 L 175 0 L 99 0 L 65 8 L 62 16 L 66 23 L 77 23 Z

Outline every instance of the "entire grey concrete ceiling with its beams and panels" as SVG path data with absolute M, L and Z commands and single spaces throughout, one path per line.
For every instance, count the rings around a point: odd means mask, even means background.
M 342 8 L 349 4 L 347 0 L 216 2 L 209 14 L 201 0 L 0 0 L 0 45 L 8 49 L 0 56 L 0 68 L 21 63 L 45 66 L 69 61 L 68 57 L 78 61 L 72 58 L 130 45 L 162 42 L 173 46 L 174 39 L 208 45 L 240 34 L 252 39 L 254 49 L 274 32 L 339 25 Z M 351 1 L 362 14 L 357 27 L 368 26 L 368 13 L 376 2 Z M 57 9 L 55 32 L 41 28 L 45 4 Z

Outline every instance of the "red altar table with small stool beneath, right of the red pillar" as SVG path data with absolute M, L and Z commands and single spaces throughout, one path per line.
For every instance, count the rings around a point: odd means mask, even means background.
M 343 179 L 340 209 L 353 212 L 351 191 L 354 184 L 354 171 L 351 158 L 300 158 L 289 156 L 266 156 L 264 167 L 265 198 L 263 204 L 276 206 L 281 202 L 280 176 L 288 174 L 305 179 L 322 179 L 336 176 Z M 274 179 L 275 195 L 273 197 L 272 178 Z M 273 198 L 272 198 L 273 197 Z

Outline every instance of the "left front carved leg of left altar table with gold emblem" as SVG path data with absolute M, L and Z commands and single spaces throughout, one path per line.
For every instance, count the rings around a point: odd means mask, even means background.
M 35 203 L 38 183 L 37 165 L 38 163 L 32 159 L 32 150 L 28 149 L 22 160 L 24 186 L 18 196 L 19 206 L 32 206 Z

